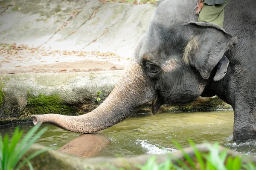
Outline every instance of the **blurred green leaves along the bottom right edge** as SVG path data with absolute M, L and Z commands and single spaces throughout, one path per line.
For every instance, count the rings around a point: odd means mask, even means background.
M 191 158 L 180 146 L 176 147 L 183 153 L 185 161 L 181 161 L 172 155 L 162 164 L 156 163 L 156 156 L 152 156 L 145 165 L 137 165 L 140 170 L 256 170 L 256 165 L 253 162 L 244 164 L 243 158 L 236 156 L 235 158 L 227 156 L 227 150 L 219 153 L 219 144 L 215 143 L 213 146 L 208 144 L 209 153 L 200 153 L 195 147 L 195 143 L 190 141 L 195 152 L 195 158 Z M 176 164 L 172 163 L 177 162 Z

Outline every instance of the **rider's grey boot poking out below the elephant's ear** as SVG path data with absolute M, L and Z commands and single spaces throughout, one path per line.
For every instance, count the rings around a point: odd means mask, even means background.
M 227 73 L 228 64 L 229 64 L 229 59 L 225 55 L 223 55 L 223 57 L 217 64 L 217 72 L 213 78 L 213 81 L 219 81 L 222 78 L 224 78 L 224 76 Z

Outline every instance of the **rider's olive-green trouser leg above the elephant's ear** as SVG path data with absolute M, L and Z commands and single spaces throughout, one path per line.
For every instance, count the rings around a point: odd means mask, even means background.
M 224 8 L 227 5 L 228 0 L 225 0 L 223 5 L 207 5 L 204 3 L 204 7 L 201 9 L 198 22 L 215 23 L 218 26 L 223 27 L 224 22 Z

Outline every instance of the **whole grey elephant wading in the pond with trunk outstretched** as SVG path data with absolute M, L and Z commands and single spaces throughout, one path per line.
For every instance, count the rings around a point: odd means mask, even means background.
M 152 102 L 187 104 L 217 95 L 234 110 L 233 141 L 256 139 L 256 1 L 230 0 L 223 29 L 198 22 L 197 0 L 162 0 L 138 40 L 125 73 L 92 112 L 78 116 L 32 115 L 34 124 L 53 124 L 93 133 L 128 118 Z M 223 55 L 230 60 L 224 78 L 214 81 Z

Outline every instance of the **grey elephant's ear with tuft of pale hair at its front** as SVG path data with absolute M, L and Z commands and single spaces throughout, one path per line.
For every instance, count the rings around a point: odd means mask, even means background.
M 208 79 L 224 52 L 236 44 L 237 38 L 213 23 L 189 22 L 186 25 L 192 30 L 192 38 L 183 57 L 187 57 L 185 60 Z

